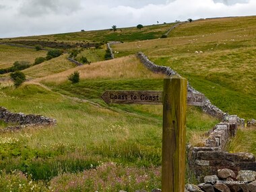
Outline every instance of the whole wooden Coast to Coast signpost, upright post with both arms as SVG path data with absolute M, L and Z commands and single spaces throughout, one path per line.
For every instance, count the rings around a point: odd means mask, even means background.
M 187 105 L 203 106 L 205 97 L 187 93 L 187 79 L 164 79 L 164 91 L 106 91 L 106 103 L 163 105 L 162 191 L 185 189 Z

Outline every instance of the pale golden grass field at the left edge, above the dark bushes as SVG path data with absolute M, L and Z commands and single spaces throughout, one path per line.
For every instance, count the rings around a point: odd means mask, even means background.
M 30 48 L 18 48 L 0 44 L 0 68 L 7 68 L 15 61 L 28 61 L 34 63 L 37 57 L 46 56 L 45 50 L 36 51 Z

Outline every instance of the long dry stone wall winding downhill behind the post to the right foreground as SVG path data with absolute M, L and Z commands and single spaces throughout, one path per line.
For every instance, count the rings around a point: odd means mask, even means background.
M 142 52 L 137 53 L 137 58 L 154 73 L 179 76 L 169 67 L 154 64 Z M 189 93 L 199 93 L 189 83 L 187 91 Z M 205 113 L 217 117 L 222 122 L 207 132 L 207 139 L 202 142 L 203 146 L 193 147 L 190 144 L 188 145 L 189 170 L 197 177 L 197 180 L 203 182 L 205 175 L 216 175 L 219 169 L 224 168 L 230 169 L 236 174 L 243 169 L 256 171 L 255 156 L 253 154 L 224 151 L 227 142 L 232 136 L 235 136 L 238 125 L 243 123 L 243 121 L 237 115 L 224 113 L 221 109 L 212 105 L 209 99 L 206 99 L 205 105 L 202 108 Z

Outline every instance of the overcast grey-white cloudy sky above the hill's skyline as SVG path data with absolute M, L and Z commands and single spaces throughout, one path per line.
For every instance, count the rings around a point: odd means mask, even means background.
M 256 15 L 256 0 L 0 0 L 0 38 Z

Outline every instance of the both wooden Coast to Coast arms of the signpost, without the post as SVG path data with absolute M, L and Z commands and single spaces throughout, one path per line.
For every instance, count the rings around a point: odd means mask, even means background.
M 101 96 L 106 103 L 162 105 L 162 91 L 105 91 Z M 170 96 L 171 97 L 171 96 Z M 187 93 L 187 105 L 203 106 L 205 96 L 199 93 Z

